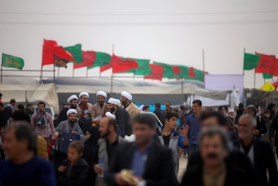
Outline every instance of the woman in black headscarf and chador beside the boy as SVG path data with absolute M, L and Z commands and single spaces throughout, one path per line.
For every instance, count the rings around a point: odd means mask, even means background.
M 85 144 L 84 144 L 84 151 L 83 151 L 83 158 L 88 162 L 90 166 L 90 176 L 89 176 L 89 183 L 90 185 L 95 185 L 95 180 L 97 174 L 94 171 L 95 162 L 98 161 L 97 153 L 99 146 L 97 141 L 100 138 L 99 134 L 99 127 L 89 127 L 85 134 Z

